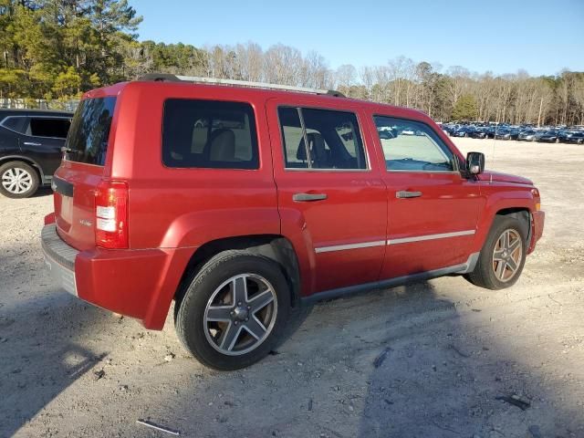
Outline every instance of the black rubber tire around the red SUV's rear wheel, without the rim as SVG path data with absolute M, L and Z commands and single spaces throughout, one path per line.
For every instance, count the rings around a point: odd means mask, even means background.
M 246 328 L 248 323 L 242 319 L 238 319 L 241 317 L 234 316 L 236 308 L 242 308 L 241 306 L 236 306 L 237 303 L 235 303 L 236 280 L 233 280 L 233 286 L 231 286 L 231 283 L 229 285 L 225 284 L 235 276 L 247 275 L 257 276 L 266 280 L 273 289 L 276 297 L 272 303 L 266 305 L 266 308 L 271 306 L 271 310 L 269 311 L 272 312 L 271 318 L 274 318 L 274 321 L 270 322 L 267 328 L 261 326 L 266 329 L 265 339 L 260 338 L 254 340 L 251 337 L 250 331 L 244 331 L 243 328 Z M 243 281 L 246 282 L 247 280 L 244 278 Z M 207 308 L 213 305 L 212 300 L 215 299 L 214 297 L 218 293 L 221 294 L 218 291 L 224 290 L 221 288 L 224 284 L 224 287 L 232 288 L 231 290 L 234 291 L 234 302 L 225 304 L 222 301 L 220 304 L 215 304 L 214 306 L 229 307 L 227 311 L 231 310 L 230 318 L 232 320 L 229 322 L 207 321 L 205 319 Z M 247 285 L 247 283 L 245 284 Z M 231 292 L 226 292 L 224 296 L 227 294 L 231 294 Z M 245 304 L 251 304 L 252 299 Z M 179 299 L 176 306 L 179 308 L 175 311 L 174 326 L 179 339 L 183 342 L 184 348 L 207 367 L 215 370 L 238 370 L 264 359 L 275 348 L 278 339 L 282 337 L 287 326 L 287 319 L 290 312 L 290 292 L 286 277 L 281 267 L 275 261 L 263 255 L 254 255 L 246 251 L 224 251 L 223 253 L 214 255 L 193 276 L 192 281 L 184 291 L 183 297 Z M 249 309 L 250 307 L 247 308 Z M 245 305 L 243 311 L 245 311 Z M 250 312 L 252 311 L 250 310 Z M 245 316 L 248 316 L 247 311 L 245 311 Z M 254 324 L 255 313 L 250 313 L 249 318 L 252 318 L 249 324 Z M 247 320 L 245 319 L 245 321 Z M 258 319 L 255 318 L 255 320 Z M 231 353 L 223 349 L 220 338 L 227 336 L 230 329 L 235 328 L 237 325 L 236 321 L 240 321 L 240 326 L 237 332 L 238 334 L 235 335 L 235 342 L 242 339 L 241 342 L 245 345 L 245 339 L 247 339 L 247 343 L 251 345 L 248 349 L 253 349 L 247 351 L 244 348 L 240 350 L 241 352 L 234 349 Z M 217 335 L 211 334 L 211 330 L 209 329 L 210 325 L 213 326 L 214 324 L 216 324 L 216 328 L 213 329 Z M 242 328 L 242 325 L 245 327 Z M 254 343 L 257 343 L 257 345 Z M 225 353 L 222 352 L 222 349 Z

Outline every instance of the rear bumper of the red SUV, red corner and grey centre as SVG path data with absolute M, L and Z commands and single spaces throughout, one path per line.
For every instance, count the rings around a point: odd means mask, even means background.
M 78 251 L 48 224 L 41 235 L 58 285 L 91 304 L 162 329 L 193 248 Z

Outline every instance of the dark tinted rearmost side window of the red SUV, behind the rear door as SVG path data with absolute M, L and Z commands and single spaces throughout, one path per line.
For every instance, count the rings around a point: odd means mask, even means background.
M 166 100 L 162 161 L 169 167 L 257 169 L 254 110 L 239 102 Z

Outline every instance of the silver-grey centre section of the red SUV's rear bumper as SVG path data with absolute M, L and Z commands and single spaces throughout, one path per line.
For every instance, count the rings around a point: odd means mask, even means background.
M 48 224 L 41 232 L 41 245 L 45 255 L 45 264 L 57 284 L 69 294 L 78 297 L 75 280 L 75 257 L 78 250 L 67 245 L 57 235 L 55 224 Z

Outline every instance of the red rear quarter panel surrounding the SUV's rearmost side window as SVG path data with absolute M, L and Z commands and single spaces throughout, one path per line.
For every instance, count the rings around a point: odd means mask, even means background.
M 258 170 L 177 169 L 162 163 L 166 99 L 244 101 L 255 110 Z M 189 84 L 130 83 L 120 94 L 111 178 L 129 181 L 130 248 L 194 248 L 236 235 L 279 234 L 261 96 Z M 132 147 L 133 145 L 133 147 Z

